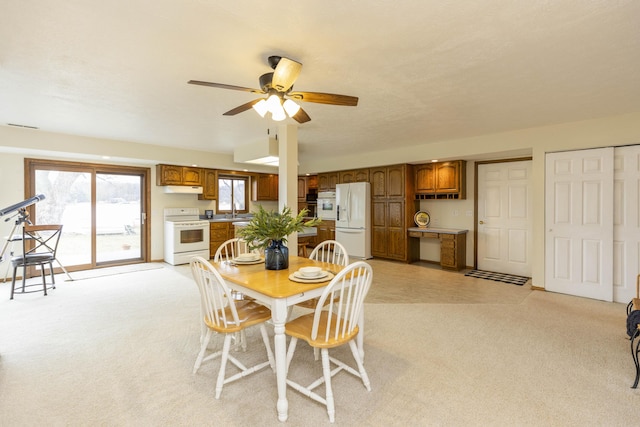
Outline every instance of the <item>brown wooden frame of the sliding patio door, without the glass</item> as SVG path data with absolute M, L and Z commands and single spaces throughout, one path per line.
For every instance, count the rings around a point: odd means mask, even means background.
M 116 265 L 135 264 L 140 262 L 149 262 L 151 254 L 151 222 L 150 215 L 147 215 L 151 207 L 151 183 L 150 176 L 151 170 L 149 168 L 135 167 L 135 166 L 121 166 L 121 165 L 109 165 L 100 163 L 83 163 L 83 162 L 69 162 L 52 159 L 24 159 L 24 179 L 25 179 L 25 199 L 35 195 L 36 170 L 59 170 L 65 172 L 82 172 L 90 173 L 92 175 L 92 189 L 91 189 L 91 262 L 89 264 L 66 266 L 69 271 L 86 270 L 92 268 L 112 267 Z M 141 245 L 140 245 L 140 258 L 115 260 L 108 262 L 96 261 L 96 185 L 95 177 L 97 174 L 123 174 L 123 175 L 137 175 L 141 179 L 141 199 L 140 199 L 140 215 L 141 224 L 140 232 Z M 31 205 L 27 208 L 29 216 L 36 218 L 37 204 Z M 64 231 L 64 230 L 63 230 Z

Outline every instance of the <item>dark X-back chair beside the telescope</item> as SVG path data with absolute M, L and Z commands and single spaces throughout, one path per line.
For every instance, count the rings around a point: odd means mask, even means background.
M 56 280 L 53 274 L 53 261 L 56 260 L 58 243 L 62 235 L 62 225 L 31 225 L 25 224 L 22 228 L 22 254 L 11 258 L 13 266 L 13 278 L 11 280 L 11 298 L 14 294 L 31 293 L 55 289 Z M 51 283 L 47 284 L 45 267 L 49 266 Z M 22 267 L 22 287 L 16 290 L 16 274 L 18 267 Z M 27 267 L 40 267 L 42 276 L 42 289 L 39 285 L 27 285 Z M 31 290 L 31 287 L 38 289 Z

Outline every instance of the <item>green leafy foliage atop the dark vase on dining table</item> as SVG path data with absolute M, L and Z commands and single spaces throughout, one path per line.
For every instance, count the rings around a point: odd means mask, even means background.
M 294 216 L 291 208 L 285 206 L 282 212 L 267 211 L 262 205 L 258 206 L 258 211 L 249 224 L 240 230 L 238 234 L 249 244 L 251 249 L 265 249 L 272 241 L 282 241 L 286 243 L 287 237 L 291 233 L 300 232 L 304 227 L 314 227 L 322 221 L 314 218 L 305 221 L 305 216 L 309 213 L 303 209 Z

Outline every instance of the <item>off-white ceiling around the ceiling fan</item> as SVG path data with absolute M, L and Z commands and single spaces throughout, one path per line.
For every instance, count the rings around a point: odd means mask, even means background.
M 0 124 L 232 153 L 277 123 L 187 81 L 257 88 L 270 55 L 360 98 L 303 103 L 301 161 L 613 116 L 640 111 L 639 23 L 636 0 L 7 0 Z

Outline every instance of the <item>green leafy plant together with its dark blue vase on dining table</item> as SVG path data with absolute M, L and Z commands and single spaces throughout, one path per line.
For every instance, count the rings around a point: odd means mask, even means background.
M 305 221 L 307 213 L 308 210 L 303 209 L 294 216 L 287 206 L 278 212 L 266 211 L 260 205 L 249 224 L 241 228 L 238 235 L 247 241 L 250 249 L 264 249 L 267 270 L 284 270 L 289 268 L 289 248 L 284 244 L 289 235 L 321 222 L 319 218 Z

